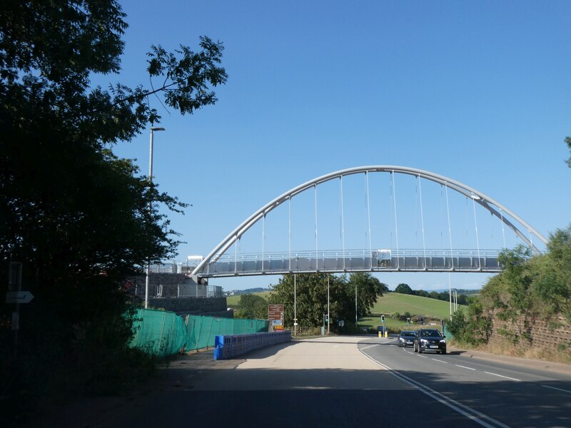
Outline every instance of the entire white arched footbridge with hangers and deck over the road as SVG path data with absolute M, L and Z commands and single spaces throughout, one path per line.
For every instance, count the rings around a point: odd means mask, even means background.
M 349 176 L 359 175 L 364 178 L 362 181 L 365 193 L 365 210 L 363 213 L 363 218 L 365 218 L 363 222 L 365 245 L 363 246 L 365 248 L 350 250 L 348 249 L 350 239 L 346 233 L 350 225 L 350 222 L 347 220 L 348 208 L 343 202 L 349 198 L 343 191 L 343 180 L 347 180 Z M 376 222 L 371 223 L 371 214 L 374 211 L 371 195 L 374 192 L 370 190 L 370 183 L 373 181 L 373 175 L 383 175 L 385 180 L 388 180 L 389 195 L 385 203 L 381 205 L 390 212 L 391 220 L 381 223 L 383 227 L 390 229 L 386 232 L 387 236 L 390 235 L 390 245 L 373 246 L 372 243 L 371 236 L 375 229 L 380 227 Z M 409 223 L 416 223 L 418 230 L 422 231 L 422 245 L 416 243 L 417 245 L 414 248 L 403 245 L 411 242 L 410 237 L 408 240 L 403 238 L 406 235 L 406 233 L 403 233 L 403 229 L 405 232 L 409 232 L 409 235 L 412 235 L 410 233 L 412 226 L 405 223 L 403 227 L 401 221 L 399 232 L 399 220 L 402 215 L 399 214 L 399 210 L 405 214 L 412 212 L 410 200 L 409 203 L 406 203 L 406 201 L 402 202 L 402 197 L 397 196 L 397 178 L 400 180 L 403 176 L 408 176 L 409 180 L 413 178 L 415 188 L 414 192 L 412 192 L 415 200 L 415 215 L 409 215 L 409 217 L 414 218 L 413 222 Z M 338 231 L 340 234 L 340 245 L 336 250 L 325 249 L 325 245 L 320 243 L 318 239 L 318 188 L 324 187 L 325 183 L 328 182 L 329 184 L 334 183 L 334 180 L 339 182 L 338 214 L 340 221 Z M 440 187 L 440 207 L 442 208 L 440 223 L 445 225 L 445 227 L 441 225 L 440 238 L 442 238 L 442 241 L 445 241 L 445 245 L 441 244 L 439 248 L 430 248 L 431 241 L 427 236 L 428 233 L 426 233 L 428 226 L 438 223 L 436 220 L 432 222 L 429 220 L 428 210 L 425 209 L 426 202 L 423 203 L 422 183 L 426 181 L 430 185 Z M 452 198 L 449 195 L 449 190 L 450 195 L 460 196 L 460 198 L 465 199 L 466 213 L 468 213 L 468 210 L 473 211 L 473 225 L 475 227 L 473 240 L 469 244 L 466 244 L 464 241 L 463 246 L 459 248 L 456 248 L 457 245 L 454 245 L 455 239 L 453 238 L 461 234 L 453 233 L 453 230 L 458 228 L 458 221 L 453 219 L 453 209 L 450 205 Z M 311 230 L 311 233 L 306 233 L 306 235 L 313 235 L 305 236 L 306 240 L 304 241 L 305 243 L 308 241 L 313 242 L 312 246 L 314 248 L 311 250 L 296 250 L 293 248 L 291 205 L 293 198 L 299 197 L 302 193 L 310 193 L 309 198 L 305 199 L 309 199 L 310 205 L 314 205 L 313 210 L 308 210 L 310 215 L 307 215 L 306 212 L 303 220 L 305 223 L 313 223 L 313 225 L 310 225 L 310 228 L 308 228 L 307 224 L 305 225 L 306 229 Z M 282 226 L 282 229 L 287 229 L 288 231 L 287 248 L 268 251 L 267 218 L 270 213 L 273 213 L 282 205 L 287 205 L 288 208 L 287 215 L 284 216 L 287 218 L 287 221 Z M 470 209 L 468 208 L 469 205 L 472 205 Z M 443 207 L 445 207 L 445 210 Z M 483 240 L 477 228 L 476 207 L 478 207 L 479 212 L 484 210 L 484 212 L 489 213 L 490 218 L 499 224 L 497 227 L 501 228 L 503 236 L 501 248 L 490 250 L 483 247 Z M 444 211 L 446 215 L 443 215 Z M 328 210 L 328 213 L 330 213 L 330 210 Z M 468 215 L 466 215 L 466 218 L 468 218 Z M 259 226 L 260 223 L 262 237 L 258 250 L 248 253 L 238 250 L 241 239 L 246 232 L 252 230 L 256 225 Z M 497 256 L 502 248 L 507 248 L 506 229 L 508 234 L 515 238 L 516 243 L 527 245 L 532 249 L 533 253 L 542 252 L 537 245 L 547 244 L 547 240 L 537 230 L 511 210 L 479 190 L 475 190 L 451 178 L 425 170 L 394 165 L 348 168 L 309 180 L 263 205 L 218 243 L 205 258 L 199 260 L 192 275 L 197 277 L 228 277 L 307 272 L 500 272 L 501 267 L 497 261 Z M 443 230 L 445 230 L 445 233 Z M 331 235 L 330 231 L 326 230 L 325 235 Z M 415 236 L 418 238 L 418 233 Z M 427 245 L 427 239 L 429 245 Z M 234 247 L 233 250 L 231 250 L 232 247 Z

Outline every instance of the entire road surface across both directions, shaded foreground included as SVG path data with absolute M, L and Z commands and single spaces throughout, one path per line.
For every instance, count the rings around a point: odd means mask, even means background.
M 418 355 L 395 344 L 320 337 L 241 360 L 179 356 L 128 397 L 79 401 L 31 426 L 571 427 L 571 367 Z

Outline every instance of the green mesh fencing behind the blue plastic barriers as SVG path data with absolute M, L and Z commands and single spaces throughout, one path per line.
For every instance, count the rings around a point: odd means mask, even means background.
M 183 350 L 214 347 L 217 335 L 243 335 L 267 332 L 267 320 L 235 320 L 233 318 L 187 315 L 174 312 L 138 309 L 133 320 L 135 335 L 131 347 L 166 357 Z

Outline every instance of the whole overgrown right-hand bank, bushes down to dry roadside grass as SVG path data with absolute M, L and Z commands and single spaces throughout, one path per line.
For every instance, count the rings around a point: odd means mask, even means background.
M 550 235 L 547 253 L 519 246 L 500 255 L 504 271 L 490 278 L 480 297 L 453 316 L 448 327 L 461 343 L 515 355 L 571 362 L 571 340 L 555 349 L 536 345 L 534 327 L 544 322 L 555 338 L 571 326 L 571 225 Z M 501 337 L 502 341 L 490 340 Z

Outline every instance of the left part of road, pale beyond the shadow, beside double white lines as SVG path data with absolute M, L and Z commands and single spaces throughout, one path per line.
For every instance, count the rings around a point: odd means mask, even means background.
M 323 337 L 251 352 L 95 426 L 403 427 L 413 415 L 429 426 L 480 426 L 360 352 L 363 338 Z

